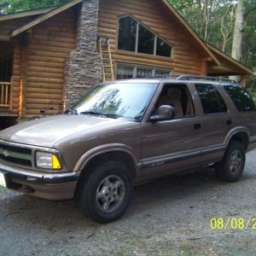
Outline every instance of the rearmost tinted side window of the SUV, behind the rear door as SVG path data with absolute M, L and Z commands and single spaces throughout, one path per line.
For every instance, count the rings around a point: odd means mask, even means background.
M 250 96 L 244 88 L 225 85 L 224 90 L 228 92 L 238 111 L 245 112 L 256 110 L 252 96 Z

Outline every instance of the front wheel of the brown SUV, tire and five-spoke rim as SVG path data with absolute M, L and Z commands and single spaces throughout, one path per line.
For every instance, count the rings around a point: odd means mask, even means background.
M 99 223 L 118 219 L 130 204 L 133 184 L 128 168 L 107 162 L 90 170 L 79 183 L 79 207 Z

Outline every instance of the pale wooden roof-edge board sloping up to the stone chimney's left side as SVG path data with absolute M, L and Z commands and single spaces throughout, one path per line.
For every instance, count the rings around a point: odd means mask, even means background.
M 74 5 L 83 2 L 83 0 L 72 0 L 70 2 L 64 3 L 62 5 L 57 6 L 55 9 L 51 9 L 46 12 L 44 15 L 39 16 L 37 19 L 32 20 L 31 22 L 26 23 L 24 26 L 20 26 L 9 33 L 9 37 L 13 38 L 19 35 L 21 32 L 25 32 L 26 30 L 32 28 L 33 26 L 38 25 L 39 23 L 43 22 L 44 20 L 48 20 L 49 18 L 60 14 L 62 11 L 73 7 Z

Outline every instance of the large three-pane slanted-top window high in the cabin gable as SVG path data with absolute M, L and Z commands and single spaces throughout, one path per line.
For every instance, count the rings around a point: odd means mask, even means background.
M 118 49 L 172 57 L 172 46 L 131 16 L 119 18 Z

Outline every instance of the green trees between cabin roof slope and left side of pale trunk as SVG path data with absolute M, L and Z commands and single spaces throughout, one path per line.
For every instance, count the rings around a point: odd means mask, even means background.
M 169 0 L 204 40 L 231 53 L 233 0 Z

